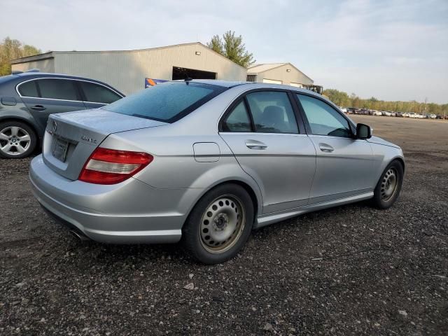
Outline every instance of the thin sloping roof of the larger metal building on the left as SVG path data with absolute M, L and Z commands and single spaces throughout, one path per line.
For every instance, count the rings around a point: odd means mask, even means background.
M 222 57 L 223 59 L 227 60 L 228 62 L 232 62 L 233 64 L 244 68 L 244 66 L 241 66 L 235 62 L 233 62 L 231 59 L 228 59 L 227 57 L 221 55 L 220 53 L 216 52 L 215 50 L 210 49 L 207 47 L 207 45 L 204 45 L 200 42 L 190 42 L 190 43 L 180 43 L 180 44 L 174 44 L 174 45 L 165 45 L 163 47 L 155 47 L 155 48 L 145 48 L 145 49 L 132 49 L 132 50 L 87 50 L 87 51 L 77 51 L 77 50 L 71 50 L 71 51 L 48 51 L 43 54 L 38 54 L 34 56 L 28 56 L 28 57 L 22 57 L 18 59 L 13 59 L 10 61 L 10 64 L 20 64 L 20 63 L 26 63 L 26 62 L 33 62 L 38 61 L 41 59 L 48 59 L 53 58 L 57 54 L 88 54 L 88 53 L 118 53 L 118 52 L 141 52 L 141 51 L 148 51 L 148 50 L 159 50 L 159 49 L 169 49 L 169 48 L 178 48 L 183 47 L 186 45 L 200 45 L 203 48 L 207 48 L 211 52 L 214 52 L 219 57 Z M 246 68 L 244 68 L 246 69 Z

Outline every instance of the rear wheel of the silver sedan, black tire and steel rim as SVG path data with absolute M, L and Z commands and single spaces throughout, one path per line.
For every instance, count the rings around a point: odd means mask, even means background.
M 197 202 L 188 216 L 182 228 L 183 246 L 193 258 L 207 265 L 218 264 L 235 257 L 251 235 L 253 209 L 251 197 L 241 186 L 233 183 L 217 186 Z M 235 211 L 235 214 L 232 211 Z M 235 230 L 232 230 L 233 228 Z M 204 233 L 208 230 L 209 235 Z M 226 238 L 227 240 L 224 238 L 211 240 L 214 239 L 214 235 L 227 237 L 230 232 L 232 234 Z

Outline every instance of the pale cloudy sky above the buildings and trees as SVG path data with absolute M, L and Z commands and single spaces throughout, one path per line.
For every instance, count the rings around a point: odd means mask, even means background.
M 0 38 L 47 50 L 127 50 L 241 34 L 257 63 L 325 88 L 448 102 L 448 0 L 2 0 Z

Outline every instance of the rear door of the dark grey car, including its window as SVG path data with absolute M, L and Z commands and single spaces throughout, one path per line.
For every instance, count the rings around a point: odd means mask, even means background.
M 36 78 L 22 82 L 18 92 L 36 122 L 45 129 L 52 113 L 84 110 L 75 80 Z

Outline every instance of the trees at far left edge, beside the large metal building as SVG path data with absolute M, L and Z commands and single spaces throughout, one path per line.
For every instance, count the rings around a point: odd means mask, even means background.
M 34 47 L 34 45 L 23 45 L 18 40 L 13 40 L 6 37 L 0 43 L 0 76 L 9 75 L 11 73 L 12 59 L 20 57 L 27 57 L 40 54 L 41 50 Z

